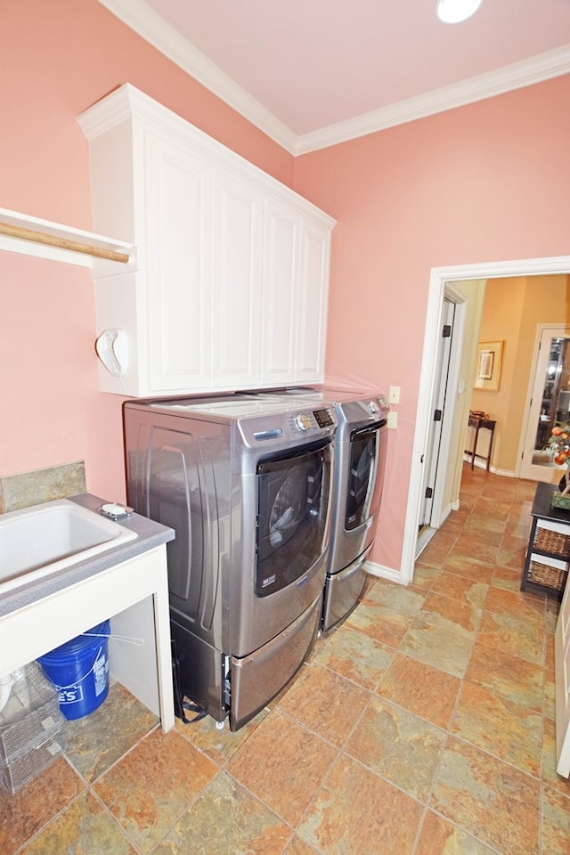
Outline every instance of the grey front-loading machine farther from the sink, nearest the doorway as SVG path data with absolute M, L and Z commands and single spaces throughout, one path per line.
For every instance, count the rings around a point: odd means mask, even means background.
M 379 530 L 378 515 L 387 453 L 388 403 L 379 392 L 330 387 L 289 387 L 252 392 L 265 400 L 284 399 L 296 406 L 327 406 L 338 421 L 332 522 L 322 629 L 343 621 L 362 598 L 364 562 Z

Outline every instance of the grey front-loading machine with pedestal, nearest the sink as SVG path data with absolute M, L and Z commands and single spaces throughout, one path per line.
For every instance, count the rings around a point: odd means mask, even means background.
M 334 411 L 217 395 L 124 405 L 127 496 L 175 529 L 170 616 L 183 695 L 239 729 L 318 631 Z

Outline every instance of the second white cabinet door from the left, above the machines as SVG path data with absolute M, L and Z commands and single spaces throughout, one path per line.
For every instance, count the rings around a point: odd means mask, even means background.
M 255 386 L 261 338 L 263 197 L 216 170 L 213 196 L 212 385 Z

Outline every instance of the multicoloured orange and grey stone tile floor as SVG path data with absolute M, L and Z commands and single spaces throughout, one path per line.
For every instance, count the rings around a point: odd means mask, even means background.
M 555 599 L 519 591 L 535 485 L 465 467 L 409 588 L 371 581 L 232 734 L 168 734 L 115 684 L 0 795 L 3 855 L 568 855 Z

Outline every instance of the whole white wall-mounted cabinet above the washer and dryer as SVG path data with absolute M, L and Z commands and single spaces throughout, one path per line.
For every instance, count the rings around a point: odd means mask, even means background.
M 102 390 L 322 381 L 335 221 L 129 84 L 78 121 L 94 227 L 136 248 L 133 272 L 94 273 L 97 334 L 126 332 Z

